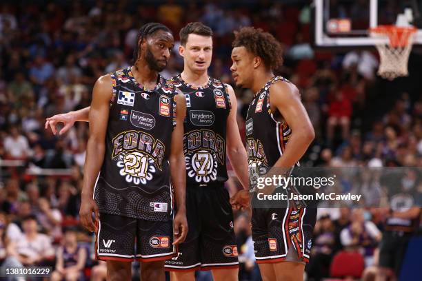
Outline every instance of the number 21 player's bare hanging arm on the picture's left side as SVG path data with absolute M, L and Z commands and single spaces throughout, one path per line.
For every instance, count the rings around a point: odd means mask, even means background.
M 90 138 L 86 147 L 85 166 L 83 167 L 83 187 L 79 219 L 88 231 L 95 231 L 96 226 L 92 221 L 92 212 L 98 222 L 99 214 L 97 204 L 94 202 L 93 191 L 95 180 L 103 165 L 106 152 L 106 130 L 110 99 L 112 98 L 112 79 L 110 75 L 101 76 L 94 85 L 92 103 L 90 108 Z M 95 121 L 95 122 L 92 122 Z

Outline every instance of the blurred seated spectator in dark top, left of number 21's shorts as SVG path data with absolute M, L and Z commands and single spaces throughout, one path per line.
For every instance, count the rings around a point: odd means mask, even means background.
M 51 280 L 79 280 L 83 276 L 87 256 L 86 248 L 78 245 L 77 230 L 67 228 L 63 245 L 57 249 L 56 269 L 52 273 Z

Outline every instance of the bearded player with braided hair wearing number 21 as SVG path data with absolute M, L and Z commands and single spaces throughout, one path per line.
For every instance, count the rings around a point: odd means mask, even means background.
M 158 73 L 174 46 L 172 32 L 147 23 L 137 46 L 134 65 L 97 80 L 89 112 L 79 216 L 83 227 L 96 231 L 97 258 L 106 260 L 108 280 L 130 280 L 134 259 L 141 261 L 142 280 L 164 280 L 164 260 L 188 227 L 185 97 Z

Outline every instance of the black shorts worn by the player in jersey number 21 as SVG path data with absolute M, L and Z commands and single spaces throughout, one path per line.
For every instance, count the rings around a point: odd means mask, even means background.
M 160 222 L 101 213 L 95 252 L 98 260 L 167 260 L 174 254 L 173 240 L 172 220 Z

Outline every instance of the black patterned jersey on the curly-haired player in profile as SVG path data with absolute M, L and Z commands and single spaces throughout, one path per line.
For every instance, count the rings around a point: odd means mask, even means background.
M 246 117 L 246 148 L 252 186 L 255 186 L 258 168 L 274 166 L 292 133 L 288 123 L 276 121 L 271 112 L 270 87 L 277 81 L 290 83 L 281 76 L 274 76 L 255 94 Z

